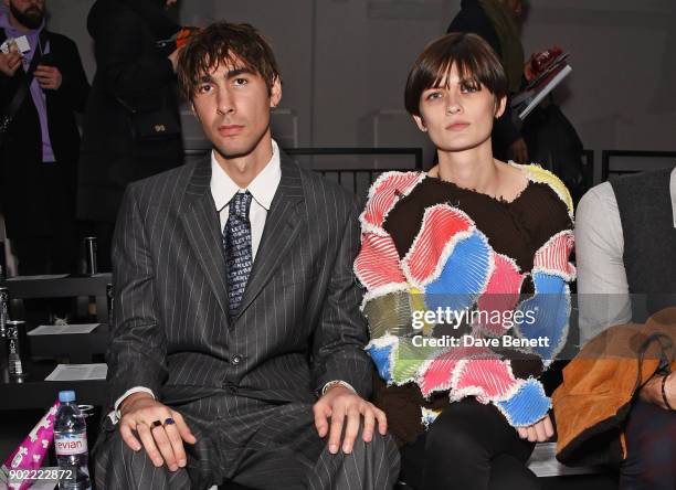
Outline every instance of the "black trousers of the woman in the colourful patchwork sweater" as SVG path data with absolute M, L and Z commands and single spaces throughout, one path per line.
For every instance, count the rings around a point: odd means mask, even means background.
M 416 490 L 530 490 L 526 467 L 535 444 L 493 405 L 474 397 L 451 404 L 427 433 L 402 448 L 401 479 Z

